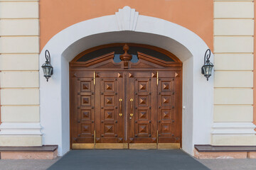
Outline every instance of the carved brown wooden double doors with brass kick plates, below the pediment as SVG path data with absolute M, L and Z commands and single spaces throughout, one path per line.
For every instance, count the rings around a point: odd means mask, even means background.
M 73 149 L 180 147 L 181 70 L 75 69 L 72 75 Z

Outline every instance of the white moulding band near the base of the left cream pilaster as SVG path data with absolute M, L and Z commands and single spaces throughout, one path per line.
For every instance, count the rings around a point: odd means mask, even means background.
M 40 123 L 1 123 L 0 135 L 42 135 Z

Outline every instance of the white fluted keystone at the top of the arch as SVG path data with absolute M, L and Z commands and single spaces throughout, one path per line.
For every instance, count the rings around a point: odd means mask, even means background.
M 135 30 L 139 12 L 134 8 L 124 6 L 115 13 L 119 30 Z

